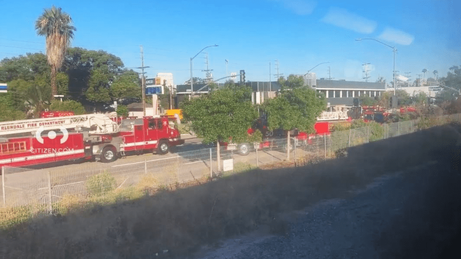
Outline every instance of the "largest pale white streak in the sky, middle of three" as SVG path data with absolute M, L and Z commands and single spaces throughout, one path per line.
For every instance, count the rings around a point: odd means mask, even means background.
M 342 8 L 330 8 L 321 19 L 324 23 L 338 26 L 354 32 L 370 34 L 376 28 L 376 22 Z

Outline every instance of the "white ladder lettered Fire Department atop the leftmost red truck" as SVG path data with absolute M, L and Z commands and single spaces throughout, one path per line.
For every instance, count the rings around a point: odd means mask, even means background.
M 0 136 L 46 130 L 88 130 L 90 134 L 118 132 L 118 125 L 103 114 L 85 114 L 0 122 Z

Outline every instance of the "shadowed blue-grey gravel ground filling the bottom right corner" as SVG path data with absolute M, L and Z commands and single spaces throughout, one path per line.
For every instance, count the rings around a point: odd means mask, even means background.
M 283 215 L 285 235 L 264 230 L 191 258 L 456 258 L 461 176 L 430 161 L 375 179 L 350 199 Z M 456 242 L 456 243 L 453 243 Z M 457 252 L 457 255 L 453 254 Z

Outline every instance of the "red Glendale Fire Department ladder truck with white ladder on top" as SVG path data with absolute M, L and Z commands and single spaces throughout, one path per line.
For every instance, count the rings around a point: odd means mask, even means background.
M 103 114 L 0 122 L 0 166 L 64 160 L 113 162 L 129 152 L 166 154 L 184 143 L 163 116 L 128 118 L 120 125 Z

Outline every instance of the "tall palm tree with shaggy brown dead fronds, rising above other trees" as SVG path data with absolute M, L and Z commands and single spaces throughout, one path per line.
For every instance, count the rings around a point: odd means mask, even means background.
M 74 36 L 75 27 L 71 26 L 72 18 L 62 12 L 61 8 L 52 6 L 35 21 L 38 35 L 46 37 L 47 58 L 51 66 L 51 99 L 57 95 L 56 74 L 66 56 L 70 40 Z

